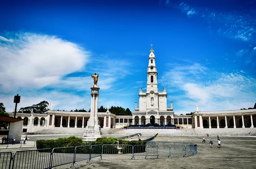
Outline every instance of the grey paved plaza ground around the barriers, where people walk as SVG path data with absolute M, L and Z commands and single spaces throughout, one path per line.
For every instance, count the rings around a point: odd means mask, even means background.
M 94 158 L 94 163 L 79 161 L 81 169 L 253 169 L 256 168 L 256 137 L 254 136 L 219 136 L 221 148 L 217 148 L 217 136 L 206 137 L 207 143 L 202 143 L 202 136 L 157 136 L 155 141 L 165 142 L 189 142 L 198 144 L 199 155 L 183 158 L 176 155 L 173 159 L 167 156 L 150 156 L 145 160 L 144 156 L 106 156 L 104 160 Z M 204 136 L 205 137 L 205 136 Z M 213 148 L 210 148 L 209 140 L 213 140 Z M 1 151 L 12 151 L 35 149 L 17 148 L 1 149 Z M 58 166 L 56 169 L 68 169 L 70 165 Z M 73 167 L 74 168 L 74 167 Z

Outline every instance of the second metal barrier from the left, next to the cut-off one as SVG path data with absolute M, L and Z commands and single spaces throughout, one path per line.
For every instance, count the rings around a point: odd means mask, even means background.
M 51 149 L 16 151 L 12 169 L 49 169 Z

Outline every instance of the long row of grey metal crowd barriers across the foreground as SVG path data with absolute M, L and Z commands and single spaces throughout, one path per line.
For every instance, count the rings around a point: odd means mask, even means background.
M 145 156 L 149 160 L 150 156 L 162 155 L 172 158 L 173 155 L 197 155 L 197 145 L 192 143 L 170 143 L 159 145 L 157 142 L 148 142 L 149 145 L 91 145 L 72 146 L 54 149 L 37 149 L 16 151 L 12 157 L 12 152 L 0 152 L 0 166 L 2 169 L 52 169 L 53 167 L 70 164 L 79 168 L 79 161 L 87 160 L 86 163 L 94 163 L 93 158 L 99 157 L 103 160 L 105 156 L 130 156 L 132 160 L 138 156 Z

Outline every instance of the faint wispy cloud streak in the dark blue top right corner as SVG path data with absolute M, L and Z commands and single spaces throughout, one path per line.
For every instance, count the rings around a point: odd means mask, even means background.
M 248 41 L 253 37 L 253 34 L 256 33 L 256 20 L 254 14 L 250 16 L 235 13 L 235 11 L 234 13 L 225 13 L 225 11 L 219 12 L 214 11 L 211 8 L 192 6 L 185 2 L 178 5 L 168 3 L 168 5 L 176 6 L 186 13 L 188 17 L 195 15 L 204 18 L 208 23 L 213 21 L 218 22 L 219 28 L 216 32 L 231 38 Z

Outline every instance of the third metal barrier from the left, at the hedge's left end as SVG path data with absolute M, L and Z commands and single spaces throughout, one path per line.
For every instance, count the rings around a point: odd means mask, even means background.
M 52 149 L 51 168 L 69 163 L 74 164 L 74 152 L 75 147 L 60 147 Z

